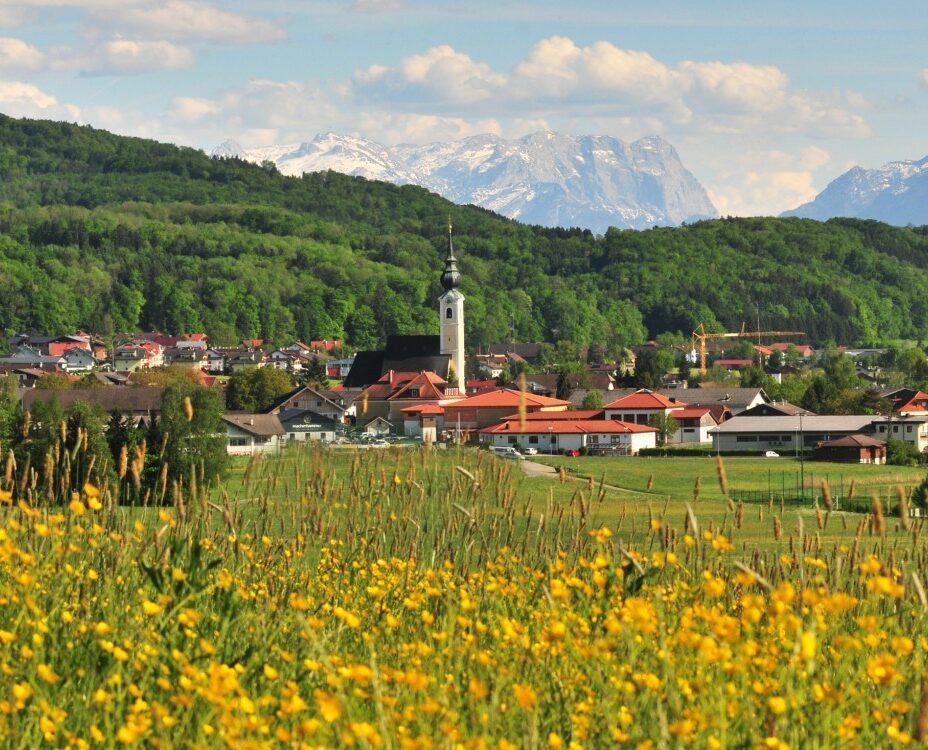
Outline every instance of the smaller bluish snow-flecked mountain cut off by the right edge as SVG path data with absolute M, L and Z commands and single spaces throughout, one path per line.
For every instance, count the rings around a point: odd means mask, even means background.
M 814 200 L 783 215 L 822 221 L 854 216 L 897 225 L 928 224 L 928 156 L 919 161 L 891 161 L 879 169 L 854 167 Z

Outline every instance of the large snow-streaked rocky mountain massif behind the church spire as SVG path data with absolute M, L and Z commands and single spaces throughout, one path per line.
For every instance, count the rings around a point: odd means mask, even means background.
M 308 143 L 243 149 L 226 141 L 213 156 L 272 161 L 284 174 L 337 172 L 413 183 L 456 203 L 474 203 L 529 224 L 641 229 L 717 216 L 673 146 L 652 136 L 542 132 L 518 140 L 478 135 L 394 148 L 326 133 Z

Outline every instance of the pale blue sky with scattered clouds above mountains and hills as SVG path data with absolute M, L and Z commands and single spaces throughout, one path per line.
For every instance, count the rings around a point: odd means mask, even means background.
M 201 148 L 660 135 L 722 215 L 928 155 L 928 3 L 0 0 L 0 112 Z

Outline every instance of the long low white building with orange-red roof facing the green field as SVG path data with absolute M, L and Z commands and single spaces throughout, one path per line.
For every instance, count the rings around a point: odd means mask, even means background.
M 535 448 L 542 453 L 588 450 L 600 455 L 635 455 L 642 448 L 657 445 L 657 430 L 602 418 L 520 420 L 516 417 L 483 428 L 480 440 L 494 447 Z

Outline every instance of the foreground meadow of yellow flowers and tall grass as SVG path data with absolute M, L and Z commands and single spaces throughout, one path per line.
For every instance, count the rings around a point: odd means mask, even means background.
M 724 469 L 720 465 L 720 477 Z M 0 490 L 8 747 L 785 748 L 928 739 L 917 519 L 525 493 L 476 451 L 306 449 L 116 507 Z M 599 509 L 599 510 L 598 510 Z M 831 519 L 833 521 L 833 519 Z M 771 531 L 773 539 L 773 531 Z

